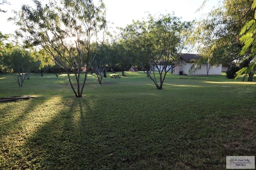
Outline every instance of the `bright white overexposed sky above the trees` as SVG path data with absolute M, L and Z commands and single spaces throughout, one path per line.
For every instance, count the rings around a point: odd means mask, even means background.
M 96 1 L 96 0 L 95 0 Z M 220 0 L 208 0 L 206 6 L 196 12 L 204 0 L 103 0 L 106 5 L 106 19 L 109 27 L 125 27 L 132 20 L 142 20 L 148 14 L 172 14 L 181 17 L 182 21 L 192 21 L 204 18 L 208 12 L 218 6 Z M 22 4 L 32 4 L 32 0 L 8 0 L 10 5 L 0 6 L 6 13 L 0 12 L 0 31 L 13 33 L 16 26 L 7 19 L 14 16 L 12 10 L 20 10 Z

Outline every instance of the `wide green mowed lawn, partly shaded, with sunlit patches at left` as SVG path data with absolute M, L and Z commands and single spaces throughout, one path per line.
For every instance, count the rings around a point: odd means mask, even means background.
M 0 169 L 225 169 L 255 156 L 256 83 L 168 74 L 156 90 L 143 72 L 89 75 L 75 98 L 67 75 L 0 74 Z

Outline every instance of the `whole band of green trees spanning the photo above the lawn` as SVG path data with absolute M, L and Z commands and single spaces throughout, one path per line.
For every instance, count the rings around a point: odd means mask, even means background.
M 208 18 L 192 22 L 173 14 L 149 14 L 120 28 L 114 36 L 108 32 L 102 0 L 98 4 L 91 0 L 34 0 L 34 7 L 23 5 L 12 18 L 20 27 L 16 31 L 16 37 L 22 39 L 20 45 L 6 43 L 8 35 L 0 33 L 0 72 L 12 73 L 19 86 L 35 70 L 56 76 L 66 72 L 75 96 L 82 97 L 89 72 L 96 74 L 101 84 L 106 72 L 135 66 L 162 90 L 166 74 L 181 54 L 196 49 L 202 58 L 194 61 L 191 72 L 200 64 L 210 69 L 222 63 L 229 69 L 239 66 L 232 77 L 243 74 L 252 80 L 255 6 L 255 0 L 223 0 Z M 168 65 L 172 67 L 166 69 Z M 70 74 L 75 74 L 75 80 Z

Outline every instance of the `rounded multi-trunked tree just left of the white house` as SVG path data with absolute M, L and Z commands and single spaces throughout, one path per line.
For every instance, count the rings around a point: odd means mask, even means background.
M 156 88 L 162 90 L 166 74 L 180 60 L 191 29 L 190 22 L 182 22 L 170 14 L 159 18 L 149 15 L 148 21 L 133 21 L 122 29 L 122 41 L 132 54 L 131 62 L 140 66 Z

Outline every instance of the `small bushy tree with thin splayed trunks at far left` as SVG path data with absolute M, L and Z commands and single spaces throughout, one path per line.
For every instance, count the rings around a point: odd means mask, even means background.
M 20 87 L 26 78 L 30 78 L 31 68 L 36 65 L 39 66 L 36 57 L 31 52 L 18 46 L 13 49 L 6 49 L 1 60 L 4 69 L 14 76 Z

